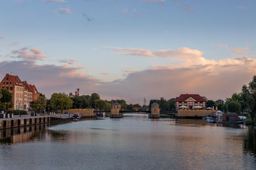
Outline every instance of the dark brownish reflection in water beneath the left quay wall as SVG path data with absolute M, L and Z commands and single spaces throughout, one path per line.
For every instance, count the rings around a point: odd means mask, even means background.
M 45 124 L 2 130 L 0 131 L 0 143 L 24 143 L 44 130 Z

